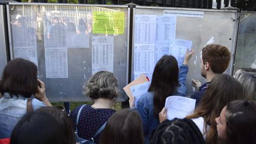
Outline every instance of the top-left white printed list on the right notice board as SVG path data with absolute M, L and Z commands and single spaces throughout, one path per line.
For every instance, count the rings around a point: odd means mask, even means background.
M 155 43 L 156 15 L 135 15 L 135 44 Z

